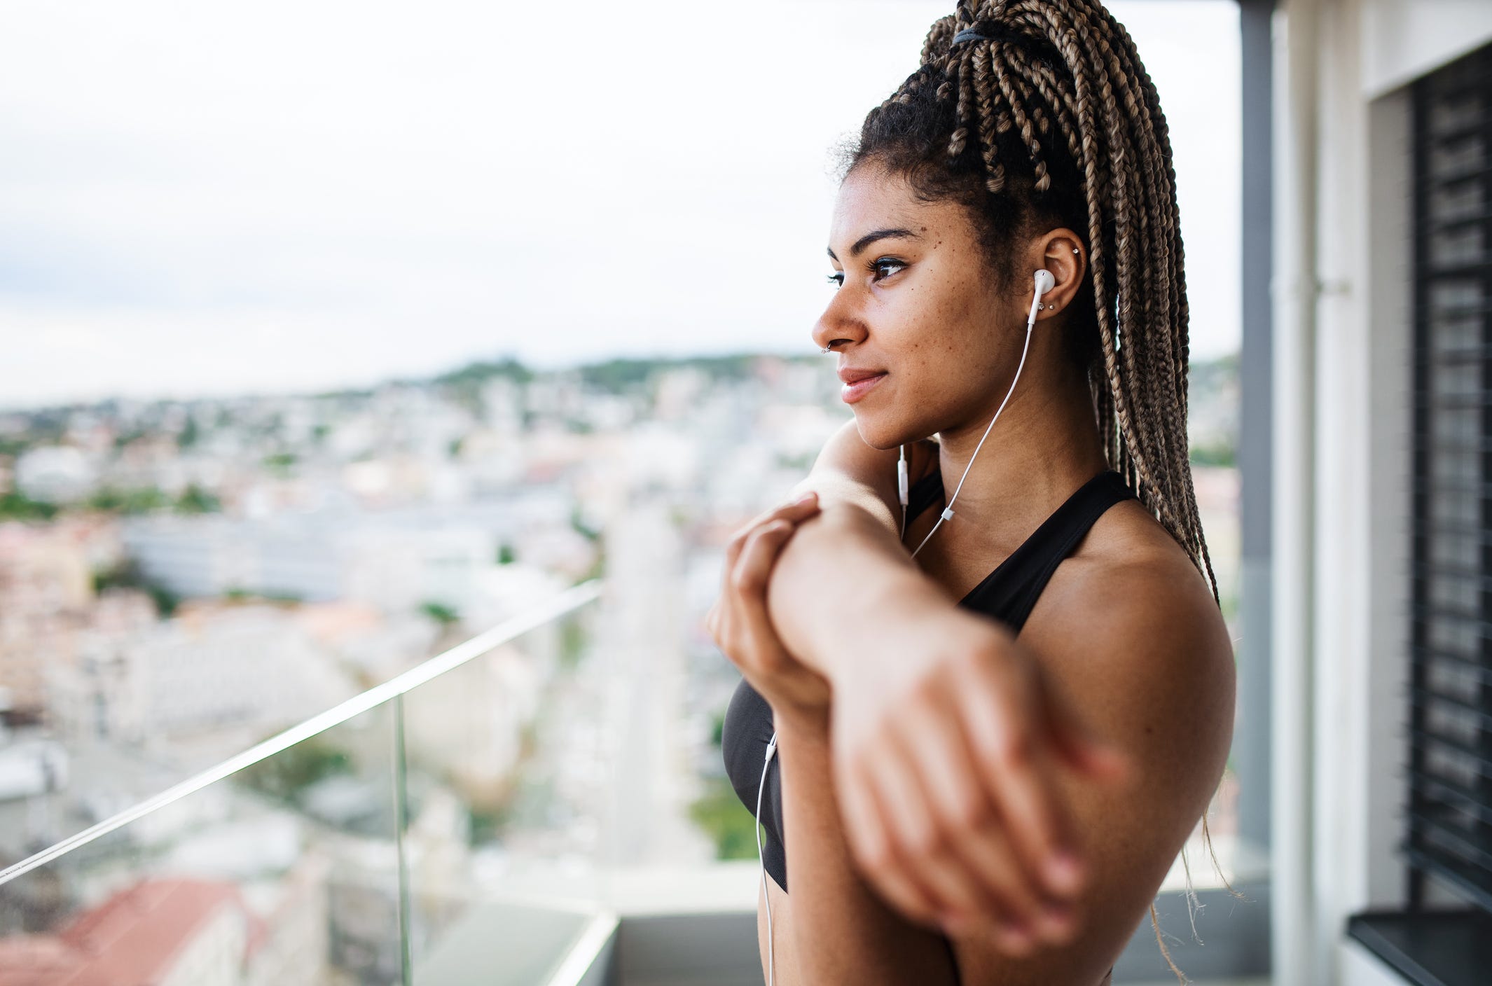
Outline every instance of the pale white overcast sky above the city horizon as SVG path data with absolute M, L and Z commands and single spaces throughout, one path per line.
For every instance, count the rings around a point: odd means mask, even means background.
M 1238 346 L 1238 7 L 1112 0 Z M 816 352 L 831 145 L 952 0 L 0 0 L 0 407 Z

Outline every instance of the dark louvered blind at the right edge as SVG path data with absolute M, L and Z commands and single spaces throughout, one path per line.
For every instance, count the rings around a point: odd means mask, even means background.
M 1413 87 L 1410 902 L 1492 911 L 1492 46 Z

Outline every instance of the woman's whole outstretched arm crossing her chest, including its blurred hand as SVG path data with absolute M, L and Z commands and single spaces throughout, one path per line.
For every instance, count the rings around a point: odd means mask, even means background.
M 1009 920 L 998 934 L 1019 953 L 1043 902 L 1071 901 L 1086 876 L 1052 765 L 1112 780 L 1123 758 L 1009 628 L 913 564 L 892 516 L 895 462 L 853 422 L 825 445 L 800 483 L 819 512 L 764 586 L 767 635 L 831 694 L 834 792 L 859 874 L 912 922 Z

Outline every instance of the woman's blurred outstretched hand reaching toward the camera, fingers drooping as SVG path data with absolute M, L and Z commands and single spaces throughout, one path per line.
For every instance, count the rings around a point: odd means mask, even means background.
M 995 621 L 891 604 L 850 632 L 831 746 L 862 876 L 910 920 L 989 925 L 1010 955 L 1070 940 L 1085 874 L 1053 770 L 1116 782 L 1128 761 Z

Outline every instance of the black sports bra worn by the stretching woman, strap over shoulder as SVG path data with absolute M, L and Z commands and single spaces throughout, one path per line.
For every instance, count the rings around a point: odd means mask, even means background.
M 907 491 L 907 522 L 919 516 L 943 497 L 943 477 L 934 470 L 919 479 Z M 985 576 L 959 600 L 959 606 L 988 613 L 1012 627 L 1018 634 L 1025 625 L 1031 607 L 1035 606 L 1047 579 L 1058 564 L 1073 550 L 1098 516 L 1120 500 L 1137 498 L 1125 485 L 1123 477 L 1106 468 L 1077 488 L 1062 506 L 1000 565 Z M 756 811 L 756 789 L 761 785 L 761 768 L 771 741 L 771 706 L 767 704 L 746 679 L 742 679 L 725 710 L 725 725 L 721 734 L 721 753 L 725 773 L 731 779 L 736 797 L 747 811 Z M 788 891 L 788 856 L 782 841 L 782 785 L 776 770 L 767 771 L 762 791 L 761 826 L 762 864 L 777 886 Z

